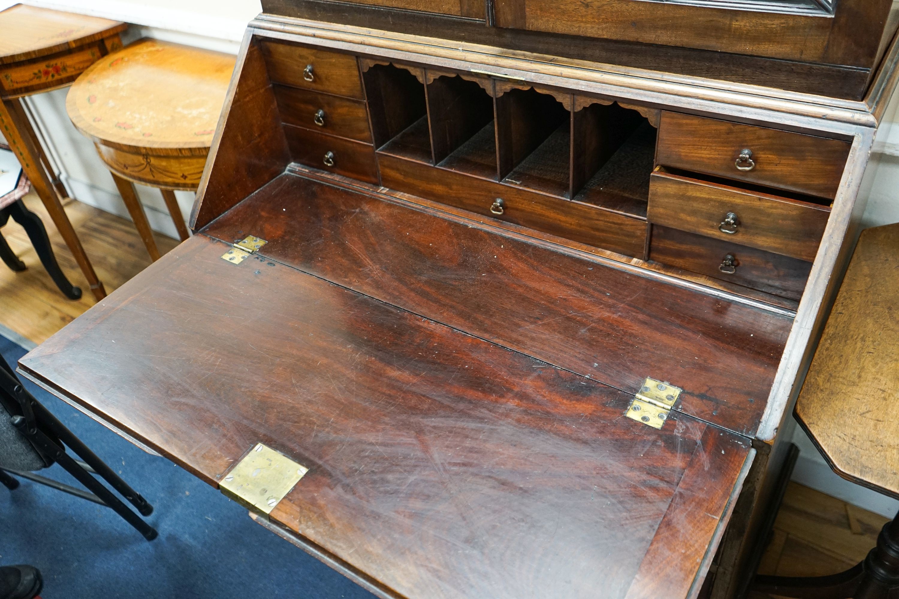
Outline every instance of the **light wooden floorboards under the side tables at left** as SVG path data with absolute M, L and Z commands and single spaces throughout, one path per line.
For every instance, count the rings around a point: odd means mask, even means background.
M 10 219 L 0 229 L 15 254 L 28 266 L 23 272 L 13 272 L 0 262 L 0 324 L 25 339 L 41 343 L 84 313 L 95 300 L 40 198 L 31 193 L 24 201 L 47 227 L 59 266 L 72 284 L 80 286 L 82 291 L 81 299 L 76 301 L 62 295 L 40 264 L 22 227 Z M 150 264 L 147 250 L 130 221 L 75 200 L 67 201 L 65 207 L 107 293 Z M 156 234 L 156 245 L 162 253 L 177 244 L 177 240 Z

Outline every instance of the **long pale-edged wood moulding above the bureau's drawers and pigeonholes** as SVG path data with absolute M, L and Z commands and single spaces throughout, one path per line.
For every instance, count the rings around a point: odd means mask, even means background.
M 641 105 L 723 116 L 743 122 L 779 123 L 784 128 L 818 135 L 850 137 L 859 128 L 877 125 L 862 101 L 826 98 L 761 85 L 716 81 L 645 68 L 599 64 L 489 47 L 449 42 L 352 25 L 334 25 L 263 14 L 251 22 L 259 35 L 295 40 L 382 59 L 428 64 L 455 71 L 489 70 L 505 78 L 571 89 Z

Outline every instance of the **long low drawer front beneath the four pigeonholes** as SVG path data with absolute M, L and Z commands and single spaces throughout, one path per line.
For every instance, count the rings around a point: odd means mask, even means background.
M 385 187 L 626 256 L 644 255 L 646 224 L 636 218 L 386 154 L 378 154 L 378 165 Z M 496 198 L 503 199 L 502 215 L 491 213 Z

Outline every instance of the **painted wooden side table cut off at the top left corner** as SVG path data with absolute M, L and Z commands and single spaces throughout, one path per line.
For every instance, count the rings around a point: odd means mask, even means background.
M 71 84 L 87 67 L 121 48 L 119 33 L 126 27 L 121 22 L 23 4 L 0 12 L 0 133 L 22 163 L 98 300 L 106 291 L 63 210 L 66 190 L 54 182 L 22 98 Z

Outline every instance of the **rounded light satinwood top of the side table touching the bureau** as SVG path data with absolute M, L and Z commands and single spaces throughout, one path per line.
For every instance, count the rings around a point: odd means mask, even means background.
M 88 68 L 66 108 L 98 144 L 206 155 L 234 64 L 227 54 L 139 40 Z

